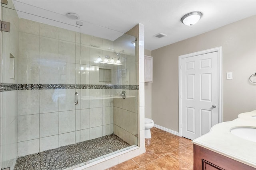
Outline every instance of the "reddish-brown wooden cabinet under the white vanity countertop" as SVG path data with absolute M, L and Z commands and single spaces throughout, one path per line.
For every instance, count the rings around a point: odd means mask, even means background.
M 256 170 L 256 168 L 194 144 L 194 170 Z

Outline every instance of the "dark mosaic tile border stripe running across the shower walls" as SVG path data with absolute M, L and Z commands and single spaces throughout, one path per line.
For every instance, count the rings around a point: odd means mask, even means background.
M 0 92 L 11 90 L 54 90 L 54 89 L 124 89 L 139 90 L 139 85 L 99 85 L 99 84 L 11 84 L 0 83 Z

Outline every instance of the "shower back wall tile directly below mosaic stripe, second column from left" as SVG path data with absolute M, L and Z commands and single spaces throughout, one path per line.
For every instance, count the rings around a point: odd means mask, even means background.
M 40 90 L 40 113 L 59 111 L 59 90 Z

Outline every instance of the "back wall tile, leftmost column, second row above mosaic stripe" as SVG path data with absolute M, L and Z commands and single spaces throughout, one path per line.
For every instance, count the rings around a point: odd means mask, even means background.
M 19 33 L 19 57 L 39 59 L 39 35 Z

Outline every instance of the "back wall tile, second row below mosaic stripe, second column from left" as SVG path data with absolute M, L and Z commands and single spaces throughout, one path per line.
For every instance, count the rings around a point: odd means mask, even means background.
M 59 112 L 40 114 L 40 138 L 59 133 Z

